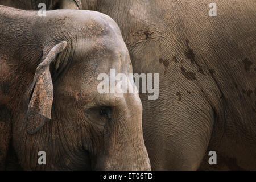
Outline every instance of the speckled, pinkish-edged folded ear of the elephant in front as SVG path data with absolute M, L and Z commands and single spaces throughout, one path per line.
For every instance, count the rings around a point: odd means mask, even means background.
M 67 42 L 61 42 L 49 51 L 46 59 L 36 68 L 31 100 L 27 110 L 27 130 L 34 134 L 47 121 L 51 120 L 53 102 L 53 84 L 50 72 L 50 64 L 56 59 L 60 52 L 67 47 Z

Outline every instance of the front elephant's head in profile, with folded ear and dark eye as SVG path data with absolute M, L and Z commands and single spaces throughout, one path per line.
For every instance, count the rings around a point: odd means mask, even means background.
M 132 73 L 109 16 L 0 5 L 0 24 L 0 169 L 150 169 L 138 94 L 97 92 L 98 74 Z

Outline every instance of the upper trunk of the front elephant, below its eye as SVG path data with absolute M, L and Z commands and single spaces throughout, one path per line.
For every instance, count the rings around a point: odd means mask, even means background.
M 142 132 L 142 105 L 137 94 L 127 94 L 125 104 L 113 110 L 112 133 L 96 158 L 96 170 L 150 170 Z M 125 109 L 123 109 L 125 107 Z

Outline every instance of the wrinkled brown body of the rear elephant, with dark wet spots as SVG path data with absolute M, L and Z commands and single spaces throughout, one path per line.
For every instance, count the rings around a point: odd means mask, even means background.
M 256 169 L 255 1 L 81 2 L 117 22 L 135 73 L 159 73 L 158 100 L 140 95 L 152 169 Z

